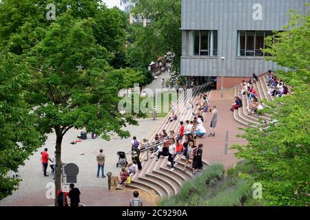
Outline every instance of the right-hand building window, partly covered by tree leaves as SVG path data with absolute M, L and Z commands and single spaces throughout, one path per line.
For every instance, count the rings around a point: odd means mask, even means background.
M 265 38 L 273 36 L 271 31 L 238 31 L 237 56 L 269 56 L 261 49 L 265 49 Z

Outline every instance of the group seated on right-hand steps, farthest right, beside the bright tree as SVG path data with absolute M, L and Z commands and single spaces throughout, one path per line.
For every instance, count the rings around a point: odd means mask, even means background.
M 267 72 L 267 86 L 270 87 L 268 94 L 270 96 L 287 96 L 291 94 L 291 91 L 289 91 L 289 88 L 285 85 L 283 80 L 280 78 L 277 78 L 275 74 L 271 70 Z

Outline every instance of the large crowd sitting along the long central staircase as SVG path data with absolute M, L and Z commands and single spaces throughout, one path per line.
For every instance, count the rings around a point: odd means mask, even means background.
M 192 102 L 190 102 L 192 109 L 194 108 Z M 192 113 L 192 120 L 186 120 L 184 123 L 180 121 L 180 127 L 178 133 L 173 130 L 169 131 L 169 135 L 165 129 L 161 133 L 158 133 L 154 137 L 154 144 L 149 144 L 147 140 L 143 140 L 143 143 L 138 141 L 136 137 L 132 140 L 132 152 L 136 152 L 136 157 L 132 158 L 132 164 L 129 164 L 127 168 L 121 170 L 121 184 L 125 187 L 129 184 L 132 176 L 142 168 L 140 161 L 140 145 L 141 147 L 149 147 L 149 152 L 152 153 L 151 158 L 159 160 L 160 157 L 168 159 L 168 164 L 171 164 L 171 171 L 176 166 L 176 160 L 178 157 L 185 157 L 186 162 L 184 170 L 187 168 L 187 164 L 192 164 L 193 175 L 196 175 L 199 169 L 203 168 L 202 155 L 203 155 L 203 144 L 196 144 L 198 137 L 203 137 L 207 131 L 203 126 L 203 113 L 209 109 L 209 98 L 207 94 L 199 94 L 198 112 Z M 168 122 L 176 120 L 176 109 L 170 104 L 172 109 L 171 115 L 169 115 Z

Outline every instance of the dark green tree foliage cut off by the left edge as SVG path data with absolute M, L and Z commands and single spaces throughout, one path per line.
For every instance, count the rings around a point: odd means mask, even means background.
M 31 83 L 28 69 L 17 56 L 0 52 L 0 199 L 19 185 L 8 171 L 18 170 L 43 142 L 34 126 L 36 116 L 25 102 L 23 88 Z

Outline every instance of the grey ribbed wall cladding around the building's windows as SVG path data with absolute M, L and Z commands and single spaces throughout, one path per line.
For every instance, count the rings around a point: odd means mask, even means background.
M 237 56 L 238 30 L 282 30 L 289 10 L 305 11 L 310 0 L 183 0 L 180 73 L 183 76 L 249 77 L 279 67 L 263 57 Z M 256 13 L 262 6 L 262 17 Z M 218 56 L 189 56 L 190 30 L 218 30 Z M 225 60 L 221 60 L 225 57 Z

